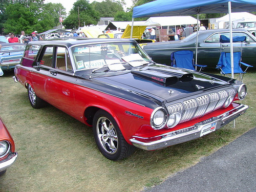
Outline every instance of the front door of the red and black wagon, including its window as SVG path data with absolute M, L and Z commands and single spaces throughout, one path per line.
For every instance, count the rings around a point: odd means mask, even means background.
M 54 47 L 53 66 L 49 73 L 47 94 L 51 104 L 63 112 L 76 117 L 74 102 L 76 76 L 74 76 L 71 59 L 66 47 Z

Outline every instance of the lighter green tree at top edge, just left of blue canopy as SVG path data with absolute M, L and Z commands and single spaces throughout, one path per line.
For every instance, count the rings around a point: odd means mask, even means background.
M 99 12 L 101 17 L 114 17 L 119 11 L 123 11 L 122 3 L 113 0 L 104 0 L 103 2 L 93 2 L 92 6 Z

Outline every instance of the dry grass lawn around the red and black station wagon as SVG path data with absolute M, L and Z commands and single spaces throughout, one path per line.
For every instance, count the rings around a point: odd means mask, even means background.
M 247 113 L 223 129 L 194 141 L 147 152 L 137 149 L 121 161 L 98 151 L 90 127 L 49 105 L 33 109 L 27 90 L 0 77 L 0 110 L 18 152 L 17 161 L 0 178 L 0 191 L 141 191 L 200 161 L 256 125 L 255 72 L 244 82 Z

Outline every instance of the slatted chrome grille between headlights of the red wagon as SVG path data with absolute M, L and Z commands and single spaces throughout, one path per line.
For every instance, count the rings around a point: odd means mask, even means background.
M 190 98 L 188 100 L 169 105 L 167 108 L 170 114 L 180 113 L 182 116 L 180 123 L 182 123 L 202 117 L 222 108 L 228 97 L 234 96 L 235 94 L 236 91 L 234 89 L 221 90 L 196 98 Z

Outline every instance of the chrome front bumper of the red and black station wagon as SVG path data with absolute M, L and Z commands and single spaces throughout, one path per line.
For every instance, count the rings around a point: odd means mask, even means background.
M 183 143 L 186 141 L 197 139 L 207 133 L 220 129 L 222 126 L 236 119 L 240 115 L 244 114 L 248 109 L 247 105 L 240 104 L 236 108 L 219 115 L 218 117 L 212 117 L 210 119 L 206 119 L 199 123 L 196 123 L 193 126 L 185 127 L 184 129 L 169 132 L 163 135 L 158 135 L 155 138 L 159 138 L 159 140 L 151 141 L 151 142 L 143 142 L 147 139 L 154 138 L 141 138 L 137 136 L 133 136 L 130 141 L 134 146 L 138 148 L 142 148 L 142 150 L 152 151 L 159 150 L 161 148 L 165 148 L 171 145 Z M 214 127 L 211 131 L 211 128 Z

